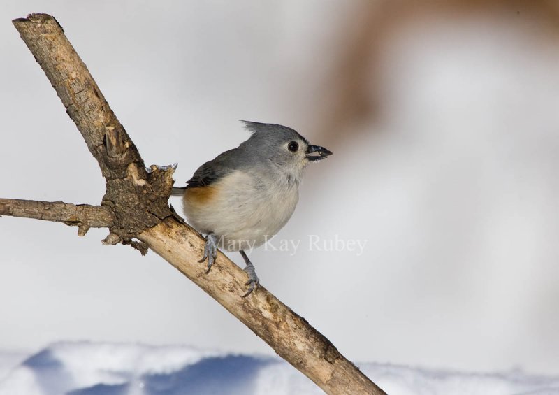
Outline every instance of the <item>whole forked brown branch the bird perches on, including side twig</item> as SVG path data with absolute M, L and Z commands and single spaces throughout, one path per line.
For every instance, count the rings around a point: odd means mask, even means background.
M 247 275 L 224 254 L 219 252 L 212 271 L 205 274 L 205 264 L 197 262 L 203 238 L 167 203 L 174 167 L 145 168 L 55 18 L 33 14 L 13 23 L 97 159 L 107 191 L 101 206 L 1 199 L 0 215 L 78 224 L 85 230 L 106 226 L 110 234 L 103 243 L 131 244 L 143 253 L 149 247 L 161 255 L 328 394 L 384 394 L 328 339 L 265 288 L 242 298 Z

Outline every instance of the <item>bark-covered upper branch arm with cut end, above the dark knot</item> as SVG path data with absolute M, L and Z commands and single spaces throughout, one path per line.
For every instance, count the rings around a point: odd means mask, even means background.
M 139 173 L 145 178 L 140 153 L 57 20 L 46 14 L 31 14 L 27 18 L 13 20 L 13 24 L 55 88 L 87 148 L 97 159 L 103 177 L 123 178 L 126 166 L 136 163 L 140 167 Z M 118 135 L 119 145 L 127 149 L 107 152 L 104 143 L 108 131 Z

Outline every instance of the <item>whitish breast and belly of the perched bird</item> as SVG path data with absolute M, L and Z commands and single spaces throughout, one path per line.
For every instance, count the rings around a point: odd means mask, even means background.
M 284 227 L 299 199 L 297 182 L 282 174 L 273 180 L 234 171 L 212 184 L 217 192 L 203 207 L 185 201 L 184 213 L 198 231 L 219 236 L 224 250 L 258 247 Z

